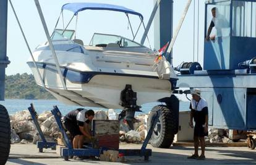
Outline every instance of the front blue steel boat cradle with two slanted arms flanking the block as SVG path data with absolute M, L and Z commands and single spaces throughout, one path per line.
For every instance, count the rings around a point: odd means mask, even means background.
M 62 148 L 61 150 L 61 156 L 64 158 L 66 161 L 69 160 L 69 156 L 96 156 L 100 157 L 100 154 L 103 154 L 103 151 L 110 150 L 108 148 L 100 148 L 100 149 L 94 149 L 94 148 L 85 148 L 85 149 L 74 149 L 72 148 L 72 145 L 69 141 L 69 138 L 67 137 L 67 134 L 64 130 L 64 127 L 62 126 L 61 122 L 61 112 L 59 111 L 57 106 L 53 106 L 53 110 L 51 111 L 56 119 L 56 122 L 59 126 L 59 130 L 61 131 L 66 146 L 67 148 Z M 156 122 L 159 117 L 159 112 L 156 113 L 156 116 L 153 117 L 153 124 L 151 125 L 147 137 L 145 138 L 145 141 L 143 142 L 142 148 L 134 150 L 134 149 L 119 149 L 119 153 L 123 153 L 124 156 L 144 156 L 144 160 L 148 161 L 149 156 L 151 156 L 152 150 L 151 149 L 146 149 L 147 144 L 151 138 L 153 128 L 156 125 Z

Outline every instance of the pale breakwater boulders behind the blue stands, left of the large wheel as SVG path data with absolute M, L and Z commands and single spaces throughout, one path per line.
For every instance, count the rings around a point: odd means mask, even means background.
M 119 132 L 121 142 L 127 143 L 142 143 L 147 135 L 147 119 L 145 115 L 135 117 L 137 120 L 134 123 L 134 130 L 129 130 L 126 123 L 122 122 Z M 30 112 L 23 110 L 16 112 L 10 116 L 11 119 L 11 143 L 30 143 L 34 144 L 40 140 L 40 136 L 36 130 Z M 109 111 L 95 111 L 95 120 L 117 120 L 118 114 L 113 109 Z M 54 119 L 53 114 L 45 111 L 38 115 L 38 123 L 48 142 L 57 141 L 59 137 L 59 128 Z

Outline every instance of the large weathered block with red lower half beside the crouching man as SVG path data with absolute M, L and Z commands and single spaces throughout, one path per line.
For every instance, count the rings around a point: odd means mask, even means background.
M 93 121 L 93 135 L 98 147 L 119 149 L 119 121 Z

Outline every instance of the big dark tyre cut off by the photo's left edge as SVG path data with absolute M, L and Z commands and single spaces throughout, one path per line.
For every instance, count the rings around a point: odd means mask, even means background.
M 11 147 L 11 124 L 7 109 L 0 105 L 0 164 L 6 164 Z

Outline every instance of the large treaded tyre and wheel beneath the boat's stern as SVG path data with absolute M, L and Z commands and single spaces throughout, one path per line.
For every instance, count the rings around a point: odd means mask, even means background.
M 177 117 L 174 115 L 172 109 L 169 109 L 167 106 L 155 106 L 148 117 L 148 130 L 150 129 L 152 118 L 155 116 L 154 113 L 156 113 L 156 111 L 160 111 L 161 114 L 156 127 L 153 129 L 150 143 L 157 148 L 169 148 L 173 143 L 174 135 L 177 130 L 176 125 L 179 119 L 176 119 Z

